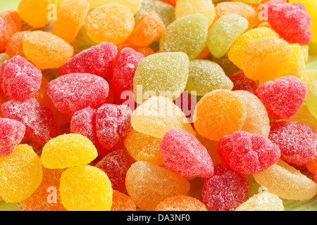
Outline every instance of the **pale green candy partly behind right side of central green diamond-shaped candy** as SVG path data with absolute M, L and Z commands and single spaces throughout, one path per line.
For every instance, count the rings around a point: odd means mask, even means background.
M 216 89 L 231 90 L 233 83 L 225 75 L 223 69 L 217 63 L 210 60 L 192 60 L 189 62 L 189 75 L 185 90 L 197 96 Z

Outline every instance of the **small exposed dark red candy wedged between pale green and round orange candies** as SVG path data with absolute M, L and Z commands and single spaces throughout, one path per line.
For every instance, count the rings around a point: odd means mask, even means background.
M 246 77 L 243 71 L 236 72 L 234 75 L 230 75 L 229 79 L 233 83 L 232 91 L 242 90 L 249 91 L 251 94 L 254 94 L 258 88 L 256 81 Z

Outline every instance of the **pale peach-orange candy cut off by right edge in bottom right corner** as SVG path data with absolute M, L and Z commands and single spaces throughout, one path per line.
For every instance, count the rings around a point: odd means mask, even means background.
M 287 200 L 308 200 L 317 193 L 315 182 L 282 160 L 253 176 L 268 192 Z

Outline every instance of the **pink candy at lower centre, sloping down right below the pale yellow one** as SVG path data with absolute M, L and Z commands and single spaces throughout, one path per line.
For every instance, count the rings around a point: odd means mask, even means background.
M 164 156 L 164 166 L 180 176 L 213 176 L 213 161 L 209 153 L 196 137 L 187 131 L 167 131 L 161 140 L 160 150 Z

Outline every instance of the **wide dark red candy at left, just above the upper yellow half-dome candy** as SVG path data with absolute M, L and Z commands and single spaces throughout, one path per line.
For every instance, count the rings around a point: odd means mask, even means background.
M 58 135 L 58 126 L 52 111 L 40 105 L 35 98 L 25 101 L 10 100 L 1 105 L 4 117 L 25 125 L 25 136 L 40 146 Z

